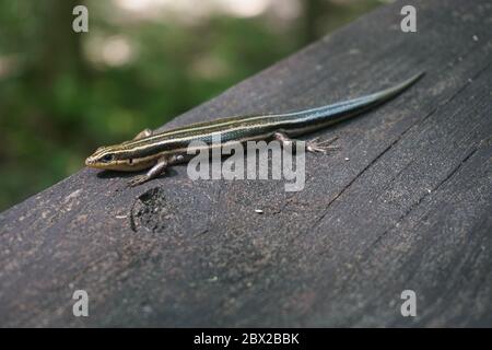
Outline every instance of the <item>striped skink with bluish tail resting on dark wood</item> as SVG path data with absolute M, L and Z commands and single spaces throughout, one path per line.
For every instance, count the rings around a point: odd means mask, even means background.
M 150 168 L 147 174 L 136 176 L 129 182 L 130 186 L 136 186 L 160 176 L 171 165 L 189 160 L 187 147 L 192 141 L 202 141 L 208 148 L 212 148 L 215 147 L 212 137 L 219 135 L 221 142 L 224 143 L 268 139 L 276 139 L 282 144 L 295 142 L 291 137 L 326 128 L 368 110 L 395 97 L 423 74 L 421 72 L 393 88 L 373 94 L 317 108 L 274 115 L 236 116 L 160 132 L 145 129 L 133 140 L 98 148 L 85 160 L 85 165 L 124 172 Z M 336 149 L 330 145 L 335 139 L 318 140 L 319 138 L 307 141 L 305 150 L 326 153 Z

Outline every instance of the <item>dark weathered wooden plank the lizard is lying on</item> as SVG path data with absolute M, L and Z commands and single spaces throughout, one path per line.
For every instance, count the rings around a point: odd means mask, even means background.
M 417 33 L 400 31 L 408 3 Z M 426 71 L 319 132 L 342 150 L 307 155 L 302 191 L 185 166 L 128 189 L 84 168 L 4 211 L 0 326 L 492 326 L 491 28 L 488 0 L 397 1 L 165 126 Z M 78 289 L 89 317 L 72 315 Z M 400 314 L 407 289 L 417 317 Z

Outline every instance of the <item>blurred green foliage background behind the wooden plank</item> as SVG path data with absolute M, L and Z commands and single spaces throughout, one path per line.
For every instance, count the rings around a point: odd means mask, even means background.
M 0 0 L 0 210 L 384 2 Z

